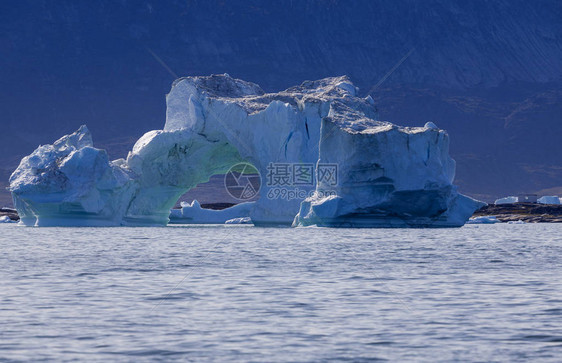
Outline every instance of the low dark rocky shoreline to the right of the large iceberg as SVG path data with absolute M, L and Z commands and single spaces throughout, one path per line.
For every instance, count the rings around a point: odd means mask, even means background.
M 500 222 L 562 223 L 562 205 L 538 203 L 489 204 L 473 217 L 495 216 Z

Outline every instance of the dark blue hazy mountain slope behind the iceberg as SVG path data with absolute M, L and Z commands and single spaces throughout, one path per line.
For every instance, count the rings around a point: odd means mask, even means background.
M 559 187 L 560 19 L 560 1 L 3 2 L 0 168 L 82 123 L 123 156 L 176 75 L 347 74 L 382 118 L 449 130 L 464 191 Z

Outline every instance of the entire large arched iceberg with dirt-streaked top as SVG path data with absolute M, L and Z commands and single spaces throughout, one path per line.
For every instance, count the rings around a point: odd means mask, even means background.
M 378 121 L 345 76 L 278 93 L 226 74 L 186 77 L 166 102 L 164 129 L 126 159 L 109 161 L 85 126 L 25 157 L 10 178 L 22 223 L 166 225 L 183 193 L 239 163 L 261 175 L 256 225 L 462 226 L 483 205 L 452 185 L 445 131 Z

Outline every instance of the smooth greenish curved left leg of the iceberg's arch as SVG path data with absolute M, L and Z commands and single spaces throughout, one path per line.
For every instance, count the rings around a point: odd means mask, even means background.
M 165 225 L 178 198 L 226 172 L 243 159 L 225 140 L 209 142 L 191 130 L 151 131 L 135 144 L 126 160 L 134 172 L 133 194 L 123 222 L 127 225 Z

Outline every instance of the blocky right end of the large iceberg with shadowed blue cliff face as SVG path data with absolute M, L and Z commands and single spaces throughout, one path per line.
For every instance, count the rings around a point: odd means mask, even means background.
M 402 128 L 348 119 L 334 113 L 322 121 L 319 163 L 337 164 L 339 183 L 319 182 L 295 226 L 462 226 L 483 205 L 452 185 L 445 131 L 432 123 Z

